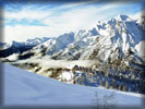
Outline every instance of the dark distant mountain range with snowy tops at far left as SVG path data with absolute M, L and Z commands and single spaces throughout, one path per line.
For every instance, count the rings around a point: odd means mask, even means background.
M 24 51 L 27 51 L 32 49 L 33 47 L 45 43 L 49 38 L 35 38 L 35 39 L 27 39 L 26 41 L 17 43 L 12 41 L 10 44 L 7 43 L 0 43 L 0 58 L 9 57 L 12 53 L 22 53 Z

